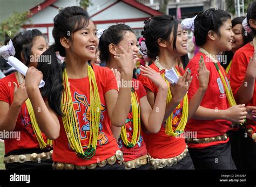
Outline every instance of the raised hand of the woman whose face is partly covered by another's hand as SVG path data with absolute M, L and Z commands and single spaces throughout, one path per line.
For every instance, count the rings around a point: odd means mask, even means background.
M 148 77 L 154 84 L 156 84 L 157 88 L 168 88 L 167 83 L 165 82 L 164 78 L 161 77 L 160 73 L 157 73 L 147 65 L 146 67 L 140 66 L 140 70 L 142 70 L 143 76 Z

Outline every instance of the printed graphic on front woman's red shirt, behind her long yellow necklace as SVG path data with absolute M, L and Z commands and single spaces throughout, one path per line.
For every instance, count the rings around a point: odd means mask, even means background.
M 79 93 L 74 93 L 75 102 L 73 102 L 74 110 L 78 119 L 78 127 L 80 133 L 80 140 L 82 143 L 82 147 L 87 147 L 87 143 L 90 138 L 90 122 L 91 122 L 91 114 L 90 114 L 90 104 L 85 95 L 80 95 Z M 99 145 L 105 145 L 108 142 L 107 136 L 103 132 L 102 122 L 104 120 L 103 112 L 106 111 L 106 106 L 100 104 L 100 123 L 99 123 L 99 135 L 98 142 Z M 79 118 L 79 117 L 83 118 Z M 86 140 L 86 141 L 83 141 Z

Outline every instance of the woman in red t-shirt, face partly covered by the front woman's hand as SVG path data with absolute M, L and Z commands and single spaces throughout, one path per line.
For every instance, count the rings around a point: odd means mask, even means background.
M 131 28 L 124 24 L 113 25 L 105 30 L 99 40 L 100 58 L 106 61 L 108 68 L 120 71 L 114 55 L 120 53 L 118 46 L 127 50 L 127 44 L 131 45 L 134 62 L 138 60 L 139 48 L 137 38 Z M 120 127 L 111 126 L 113 134 L 118 141 L 118 147 L 124 154 L 126 169 L 149 169 L 149 156 L 147 155 L 146 144 L 140 131 L 140 123 L 144 124 L 147 131 L 158 133 L 161 122 L 164 119 L 165 104 L 168 86 L 160 74 L 149 67 L 141 68 L 145 76 L 157 85 L 158 94 L 153 110 L 147 101 L 146 90 L 142 83 L 132 79 L 132 100 L 130 113 L 127 116 L 125 125 Z M 121 70 L 122 72 L 122 70 Z M 118 74 L 118 73 L 117 73 Z M 123 80 L 118 80 L 119 88 L 126 87 Z

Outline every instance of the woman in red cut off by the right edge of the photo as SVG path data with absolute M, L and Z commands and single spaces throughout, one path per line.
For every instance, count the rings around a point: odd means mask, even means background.
M 254 36 L 253 41 L 238 49 L 231 65 L 230 84 L 237 103 L 245 103 L 251 110 L 245 124 L 241 142 L 241 161 L 244 169 L 256 169 L 256 2 L 247 9 L 245 24 L 247 34 Z

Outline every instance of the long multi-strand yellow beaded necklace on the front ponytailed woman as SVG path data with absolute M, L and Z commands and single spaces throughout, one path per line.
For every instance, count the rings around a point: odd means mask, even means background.
M 86 150 L 83 150 L 80 142 L 78 121 L 76 112 L 73 108 L 73 101 L 70 91 L 69 78 L 66 73 L 66 68 L 63 71 L 63 86 L 61 110 L 63 112 L 63 125 L 66 135 L 68 137 L 71 149 L 75 150 L 77 155 L 84 160 L 90 160 L 96 153 L 97 139 L 99 134 L 99 121 L 100 121 L 100 98 L 98 86 L 96 83 L 95 73 L 87 64 L 87 72 L 90 85 L 90 138 L 89 145 Z

